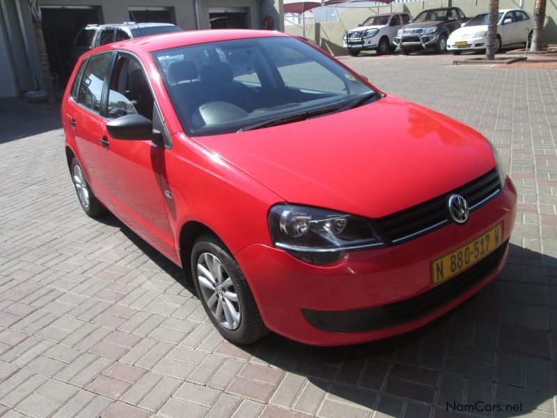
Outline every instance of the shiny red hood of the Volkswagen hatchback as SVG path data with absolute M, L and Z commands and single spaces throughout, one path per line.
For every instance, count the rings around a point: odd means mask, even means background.
M 338 114 L 195 141 L 289 203 L 383 217 L 493 169 L 485 138 L 394 97 Z

